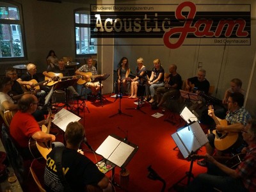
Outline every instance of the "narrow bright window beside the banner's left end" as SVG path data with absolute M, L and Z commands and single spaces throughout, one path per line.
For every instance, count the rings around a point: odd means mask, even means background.
M 97 54 L 95 38 L 90 38 L 90 12 L 75 10 L 76 55 Z

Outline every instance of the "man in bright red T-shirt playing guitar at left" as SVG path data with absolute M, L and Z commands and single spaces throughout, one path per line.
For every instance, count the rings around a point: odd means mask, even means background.
M 35 118 L 31 115 L 36 111 L 38 99 L 35 95 L 25 94 L 19 100 L 19 111 L 15 113 L 10 124 L 10 135 L 24 159 L 31 159 L 29 152 L 29 139 L 36 141 L 55 141 L 53 134 L 41 131 Z M 49 121 L 49 117 L 45 122 Z

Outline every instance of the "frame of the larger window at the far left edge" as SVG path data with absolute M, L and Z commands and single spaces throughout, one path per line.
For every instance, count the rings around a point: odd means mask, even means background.
M 27 49 L 26 49 L 26 39 L 25 39 L 25 29 L 24 29 L 24 19 L 23 19 L 23 11 L 22 11 L 22 5 L 20 3 L 17 3 L 15 1 L 11 0 L 2 0 L 1 3 L 6 4 L 13 4 L 13 6 L 17 6 L 19 8 L 19 17 L 20 20 L 10 20 L 10 19 L 0 19 L 0 24 L 17 24 L 20 25 L 20 33 L 21 33 L 21 41 L 20 44 L 22 44 L 23 48 L 23 54 L 24 56 L 21 57 L 10 57 L 10 58 L 0 58 L 0 61 L 22 61 L 22 60 L 28 60 L 27 56 Z

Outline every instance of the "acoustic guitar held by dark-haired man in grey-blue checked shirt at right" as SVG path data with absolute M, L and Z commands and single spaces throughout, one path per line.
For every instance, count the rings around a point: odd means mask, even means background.
M 209 110 L 212 110 L 212 106 L 210 105 Z M 228 125 L 227 120 L 221 120 L 220 125 Z M 227 150 L 234 143 L 236 143 L 238 139 L 238 132 L 230 132 L 230 131 L 221 131 L 218 132 L 216 130 L 212 131 L 215 134 L 214 146 L 218 150 Z

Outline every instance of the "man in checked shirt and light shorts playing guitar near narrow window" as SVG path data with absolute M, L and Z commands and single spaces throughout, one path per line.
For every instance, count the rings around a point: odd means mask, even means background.
M 92 94 L 93 95 L 97 95 L 98 92 L 100 91 L 99 81 L 90 82 L 90 76 L 88 74 L 86 74 L 86 73 L 90 72 L 90 73 L 92 73 L 92 76 L 97 76 L 97 69 L 92 65 L 92 58 L 88 58 L 86 60 L 86 63 L 87 64 L 78 68 L 75 73 L 79 76 L 86 77 L 86 79 L 88 79 L 88 81 L 84 83 L 84 86 L 92 89 Z M 103 84 L 101 84 L 101 89 L 102 88 L 103 88 Z

